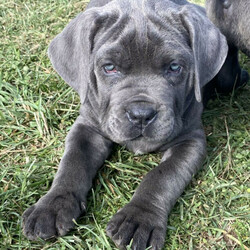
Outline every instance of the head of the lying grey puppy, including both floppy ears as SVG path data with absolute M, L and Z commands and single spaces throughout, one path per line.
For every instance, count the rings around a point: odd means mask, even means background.
M 201 102 L 202 87 L 226 54 L 224 37 L 202 10 L 160 0 L 91 8 L 49 48 L 93 126 L 136 152 L 155 150 L 180 133 L 187 106 Z

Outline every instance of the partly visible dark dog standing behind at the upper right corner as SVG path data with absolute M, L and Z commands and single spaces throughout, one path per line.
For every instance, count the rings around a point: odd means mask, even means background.
M 206 11 L 211 21 L 226 36 L 229 51 L 220 73 L 206 87 L 220 93 L 244 85 L 249 75 L 238 61 L 238 49 L 250 56 L 250 1 L 206 0 Z

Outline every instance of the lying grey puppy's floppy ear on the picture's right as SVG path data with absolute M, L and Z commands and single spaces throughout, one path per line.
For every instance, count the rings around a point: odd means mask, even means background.
M 202 9 L 188 5 L 182 14 L 194 55 L 195 97 L 200 102 L 202 87 L 214 78 L 225 62 L 227 41 Z

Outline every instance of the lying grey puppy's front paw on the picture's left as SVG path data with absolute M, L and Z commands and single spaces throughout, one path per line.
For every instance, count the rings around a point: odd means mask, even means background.
M 24 212 L 24 235 L 30 240 L 65 235 L 83 207 L 72 193 L 48 193 Z

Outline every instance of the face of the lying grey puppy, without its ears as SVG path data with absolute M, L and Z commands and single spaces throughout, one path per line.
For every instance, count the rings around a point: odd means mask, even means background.
M 182 129 L 193 57 L 176 28 L 157 27 L 138 14 L 94 56 L 102 128 L 137 153 L 154 150 Z

